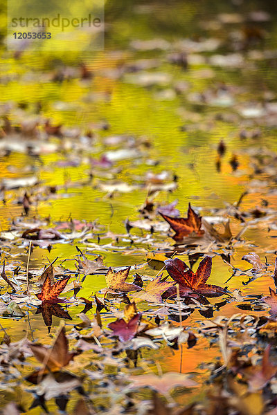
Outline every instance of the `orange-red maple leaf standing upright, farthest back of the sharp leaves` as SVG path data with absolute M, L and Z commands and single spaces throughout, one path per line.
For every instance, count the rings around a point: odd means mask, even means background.
M 204 234 L 204 230 L 200 229 L 202 225 L 202 216 L 195 213 L 193 208 L 188 203 L 188 217 L 187 218 L 175 218 L 173 216 L 166 216 L 166 214 L 159 214 L 170 224 L 170 227 L 175 230 L 173 239 L 175 241 L 181 241 L 184 237 L 188 237 L 189 234 L 195 232 L 197 236 Z

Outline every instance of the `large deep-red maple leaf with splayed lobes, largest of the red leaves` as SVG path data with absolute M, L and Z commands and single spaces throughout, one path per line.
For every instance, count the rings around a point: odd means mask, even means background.
M 204 295 L 205 297 L 220 297 L 225 293 L 224 288 L 216 285 L 206 284 L 211 275 L 212 259 L 205 257 L 200 262 L 196 273 L 179 258 L 165 261 L 166 270 L 172 279 L 179 284 L 180 295 L 186 297 L 192 293 Z M 173 287 L 166 291 L 166 296 L 176 295 L 177 288 Z

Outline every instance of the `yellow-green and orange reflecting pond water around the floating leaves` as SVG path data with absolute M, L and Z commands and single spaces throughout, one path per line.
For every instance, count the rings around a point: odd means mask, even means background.
M 177 208 L 185 217 L 188 203 L 202 216 L 220 216 L 226 205 L 237 202 L 247 190 L 240 205 L 242 211 L 267 206 L 272 210 L 267 215 L 272 216 L 264 222 L 255 222 L 253 216 L 246 219 L 249 225 L 243 242 L 233 245 L 231 264 L 242 270 L 251 268 L 242 261 L 242 256 L 251 251 L 262 261 L 266 255 L 267 263 L 274 264 L 276 228 L 271 225 L 276 219 L 276 170 L 272 167 L 271 172 L 268 169 L 257 173 L 255 166 L 259 156 L 274 157 L 277 151 L 274 7 L 270 1 L 109 1 L 105 10 L 105 50 L 60 54 L 25 50 L 15 57 L 2 48 L 3 124 L 6 116 L 13 127 L 24 122 L 28 127 L 37 120 L 38 134 L 42 134 L 18 136 L 17 131 L 12 131 L 3 136 L 2 144 L 0 141 L 0 181 L 6 187 L 0 205 L 2 258 L 17 263 L 21 273 L 26 273 L 28 241 L 19 239 L 14 243 L 5 237 L 5 232 L 16 228 L 15 221 L 19 221 L 19 228 L 21 222 L 32 228 L 36 220 L 48 218 L 45 227 L 53 228 L 57 223 L 77 219 L 97 223 L 93 236 L 53 243 L 50 252 L 35 246 L 30 271 L 39 269 L 41 273 L 48 261 L 58 257 L 57 266 L 62 264 L 73 273 L 78 246 L 89 259 L 102 255 L 105 266 L 138 266 L 136 271 L 147 281 L 158 273 L 146 264 L 148 252 L 157 252 L 167 243 L 166 252 L 172 254 L 176 249 L 174 241 L 168 232 L 154 232 L 149 241 L 149 230 L 132 228 L 127 234 L 125 221 L 142 219 L 139 209 L 152 197 L 152 187 L 157 185 L 160 190 L 153 196 L 154 203 L 167 205 L 178 200 Z M 80 62 L 93 74 L 88 79 L 75 75 Z M 46 119 L 53 125 L 62 124 L 64 136 L 49 134 L 45 139 Z M 88 131 L 92 137 L 86 135 Z M 220 140 L 226 152 L 219 167 Z M 110 164 L 90 162 L 103 155 Z M 230 164 L 234 155 L 239 163 L 235 171 Z M 35 178 L 35 184 L 28 185 L 26 180 L 13 189 L 10 183 L 17 178 Z M 28 215 L 20 203 L 25 192 L 32 201 Z M 161 221 L 159 216 L 155 220 Z M 231 217 L 233 235 L 243 226 L 240 219 Z M 221 247 L 220 252 L 225 248 Z M 216 250 L 203 252 L 214 255 Z M 188 261 L 187 253 L 185 249 L 181 254 L 184 261 Z M 229 277 L 231 268 L 220 255 L 215 255 L 209 283 L 226 286 Z M 249 275 L 235 275 L 228 289 L 240 289 L 242 295 L 264 296 L 269 286 L 274 287 L 270 273 L 243 285 L 248 279 Z M 104 275 L 88 275 L 80 296 L 88 298 L 105 286 Z M 71 297 L 71 293 L 66 296 Z M 27 333 L 29 338 L 49 344 L 51 337 L 42 314 L 36 314 L 35 306 L 19 305 L 24 317 L 0 319 L 12 342 Z M 83 306 L 69 306 L 72 321 L 66 320 L 66 331 L 80 322 L 78 313 Z M 118 307 L 123 309 L 122 305 Z M 138 307 L 145 313 L 151 308 L 146 302 Z M 94 311 L 93 306 L 88 316 L 92 318 Z M 240 312 L 261 315 L 268 310 L 240 311 L 237 304 L 229 303 L 216 310 L 214 316 L 230 317 Z M 105 322 L 111 321 L 105 313 L 102 317 Z M 196 310 L 183 324 L 197 326 L 205 318 Z M 60 319 L 53 317 L 51 335 L 59 324 Z M 217 347 L 210 348 L 208 341 L 202 339 L 192 349 L 183 346 L 176 351 L 163 346 L 158 351 L 143 351 L 143 360 L 152 361 L 152 366 L 148 364 L 154 371 L 154 362 L 159 361 L 165 372 L 181 368 L 182 373 L 197 372 L 199 379 L 208 373 L 201 364 L 219 354 Z M 73 369 L 85 367 L 86 358 L 91 358 L 89 352 L 76 358 Z M 28 361 L 35 362 L 30 358 Z M 24 367 L 23 373 L 28 370 Z M 204 387 L 188 394 L 186 403 L 201 396 L 203 390 Z M 8 393 L 0 391 L 1 405 L 19 401 L 19 393 L 16 387 Z M 21 404 L 26 408 L 30 402 L 26 392 Z M 74 402 L 73 398 L 70 410 Z M 55 413 L 55 404 L 49 405 Z

